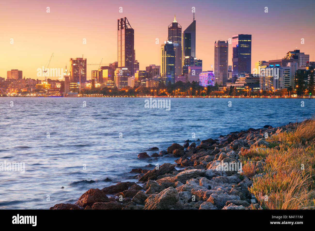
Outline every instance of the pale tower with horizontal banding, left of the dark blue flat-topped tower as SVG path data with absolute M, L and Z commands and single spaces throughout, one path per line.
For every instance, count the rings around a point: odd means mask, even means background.
M 222 73 L 222 84 L 227 82 L 227 60 L 228 60 L 227 41 L 215 41 L 215 73 Z

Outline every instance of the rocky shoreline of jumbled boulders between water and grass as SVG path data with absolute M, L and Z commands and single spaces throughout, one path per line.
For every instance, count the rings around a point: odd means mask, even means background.
M 216 140 L 202 140 L 199 145 L 190 140 L 183 145 L 173 143 L 151 157 L 178 157 L 175 164 L 132 169 L 130 173 L 136 173 L 137 183 L 119 182 L 101 190 L 89 189 L 75 204 L 56 204 L 50 209 L 261 209 L 258 203 L 252 203 L 248 190 L 252 181 L 242 174 L 239 154 L 255 147 L 271 148 L 266 138 L 289 132 L 296 125 L 249 128 Z M 154 150 L 158 148 L 150 149 Z M 138 158 L 150 156 L 141 152 Z M 255 163 L 255 168 L 259 170 L 263 164 L 264 159 Z

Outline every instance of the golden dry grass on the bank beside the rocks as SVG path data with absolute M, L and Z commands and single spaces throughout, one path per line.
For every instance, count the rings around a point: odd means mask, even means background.
M 281 141 L 280 150 L 258 150 L 256 156 L 259 158 L 266 154 L 263 168 L 266 174 L 253 179 L 249 191 L 266 209 L 314 209 L 315 120 L 306 120 L 292 132 L 280 133 L 268 141 L 278 140 Z M 243 165 L 259 159 L 249 155 L 241 158 Z

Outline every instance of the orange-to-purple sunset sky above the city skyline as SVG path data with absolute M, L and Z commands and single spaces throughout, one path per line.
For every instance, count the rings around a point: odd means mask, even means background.
M 192 7 L 196 12 L 196 57 L 203 60 L 203 71 L 214 66 L 215 41 L 236 34 L 252 35 L 251 69 L 256 61 L 283 58 L 294 49 L 315 61 L 313 0 L 0 0 L 0 77 L 19 69 L 23 78 L 43 80 L 37 77 L 37 69 L 48 64 L 52 53 L 49 68 L 65 70 L 70 58 L 82 55 L 87 63 L 100 63 L 102 58 L 106 65 L 113 63 L 117 61 L 117 19 L 123 17 L 135 30 L 140 70 L 149 64 L 160 65 L 160 46 L 167 40 L 174 14 L 184 31 L 193 20 Z M 232 44 L 228 56 L 232 65 Z M 97 68 L 87 66 L 88 80 L 91 70 Z

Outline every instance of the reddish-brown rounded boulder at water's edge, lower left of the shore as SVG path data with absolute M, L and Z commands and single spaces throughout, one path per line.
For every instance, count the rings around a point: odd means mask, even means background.
M 109 198 L 106 196 L 105 192 L 99 189 L 89 189 L 83 193 L 78 201 L 75 203 L 78 206 L 92 206 L 95 202 L 108 202 Z

